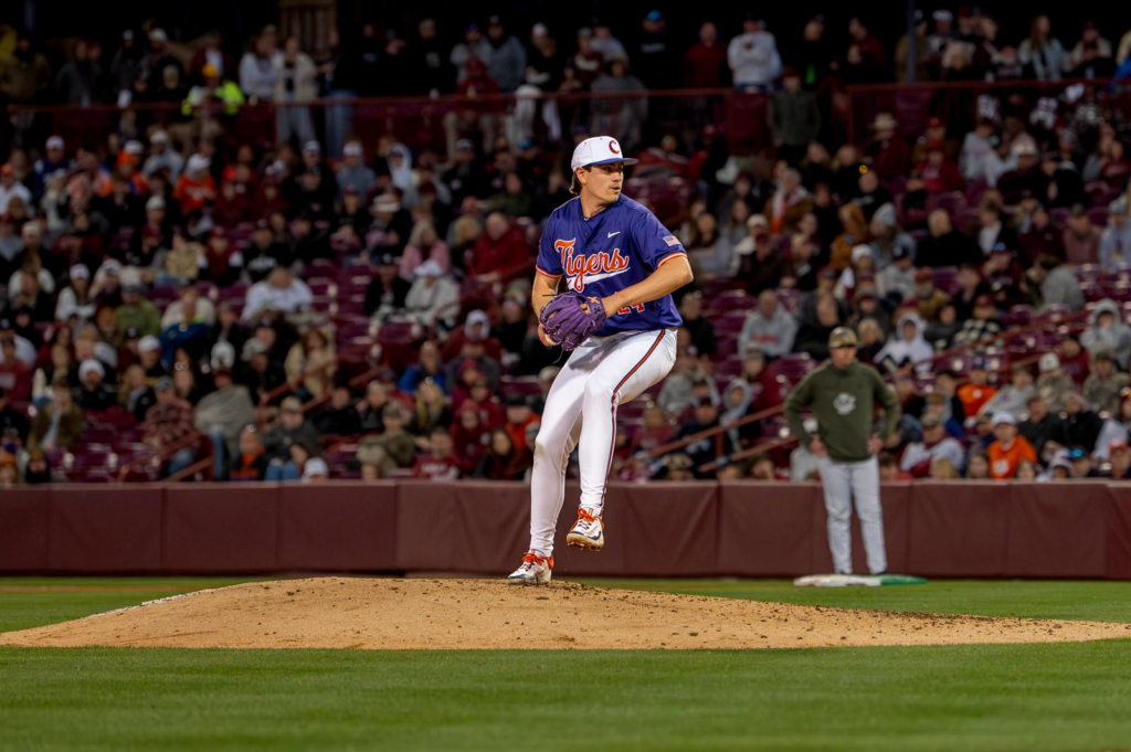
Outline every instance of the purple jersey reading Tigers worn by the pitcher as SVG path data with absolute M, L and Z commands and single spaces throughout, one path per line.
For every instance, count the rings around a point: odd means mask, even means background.
M 566 277 L 566 285 L 585 295 L 607 297 L 642 282 L 662 265 L 687 256 L 683 245 L 656 216 L 621 195 L 608 208 L 586 219 L 581 199 L 554 209 L 542 231 L 538 273 Z M 621 309 L 596 336 L 618 331 L 651 331 L 683 323 L 671 295 Z

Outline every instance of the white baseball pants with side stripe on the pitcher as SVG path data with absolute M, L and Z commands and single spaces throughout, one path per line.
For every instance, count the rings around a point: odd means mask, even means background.
M 639 397 L 675 365 L 675 330 L 590 337 L 573 351 L 546 395 L 534 442 L 530 550 L 549 556 L 566 499 L 566 468 L 578 449 L 581 507 L 599 515 L 616 443 L 616 406 Z

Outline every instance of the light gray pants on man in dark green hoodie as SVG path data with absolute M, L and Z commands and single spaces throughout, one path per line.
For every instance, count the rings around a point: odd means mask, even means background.
M 875 457 L 860 463 L 819 460 L 824 509 L 828 510 L 829 551 L 837 574 L 852 574 L 852 502 L 856 501 L 867 569 L 873 574 L 888 570 L 883 546 L 883 510 L 880 508 L 880 464 Z

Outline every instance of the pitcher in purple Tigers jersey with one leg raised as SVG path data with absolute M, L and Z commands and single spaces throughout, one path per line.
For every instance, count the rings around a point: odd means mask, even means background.
M 683 245 L 640 204 L 621 193 L 616 139 L 588 138 L 573 152 L 575 198 L 554 209 L 542 232 L 532 302 L 538 335 L 570 357 L 554 379 L 534 443 L 530 550 L 510 576 L 545 585 L 553 569 L 554 527 L 566 499 L 566 467 L 579 446 L 581 502 L 567 543 L 599 551 L 602 511 L 616 443 L 616 406 L 658 382 L 675 363 L 683 321 L 672 292 L 691 282 Z M 558 293 L 562 280 L 566 289 Z

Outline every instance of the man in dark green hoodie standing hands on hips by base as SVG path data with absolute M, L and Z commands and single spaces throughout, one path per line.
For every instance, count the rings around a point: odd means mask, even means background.
M 874 404 L 883 406 L 880 433 L 873 433 Z M 801 410 L 811 407 L 817 435 L 805 430 Z M 818 458 L 824 508 L 828 510 L 829 550 L 838 574 L 852 574 L 852 501 L 860 516 L 867 569 L 888 570 L 880 508 L 880 466 L 877 455 L 896 427 L 899 403 L 871 365 L 856 362 L 856 334 L 838 327 L 829 335 L 829 362 L 811 371 L 785 403 L 789 430 Z

